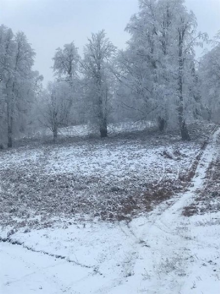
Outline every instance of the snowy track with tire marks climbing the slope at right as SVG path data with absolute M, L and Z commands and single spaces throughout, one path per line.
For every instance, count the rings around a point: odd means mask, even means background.
M 110 289 L 108 294 L 181 293 L 184 277 L 188 274 L 186 264 L 193 258 L 191 250 L 188 249 L 189 226 L 181 213 L 183 207 L 195 196 L 196 190 L 204 184 L 209 163 L 217 150 L 219 135 L 220 128 L 213 133 L 209 142 L 198 153 L 198 162 L 196 166 L 195 162 L 192 165 L 195 170 L 193 178 L 188 183 L 188 190 L 172 198 L 173 203 L 171 202 L 170 206 L 167 207 L 162 203 L 146 220 L 142 218 L 143 229 L 139 233 L 138 222 L 135 223 L 133 220 L 130 223 L 131 237 L 135 235 L 150 247 L 136 245 L 139 258 L 132 269 L 134 276 L 129 277 L 123 285 L 118 284 L 116 288 Z M 128 235 L 127 231 L 126 235 Z M 147 277 L 147 282 L 143 279 L 144 275 Z

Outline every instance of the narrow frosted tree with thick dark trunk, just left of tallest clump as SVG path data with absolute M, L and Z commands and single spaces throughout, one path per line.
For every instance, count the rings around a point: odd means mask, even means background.
M 111 96 L 111 59 L 116 48 L 106 38 L 104 30 L 92 33 L 84 49 L 81 63 L 88 105 L 92 107 L 92 118 L 99 124 L 101 137 L 108 136 L 108 102 Z M 91 109 L 90 109 L 91 110 Z

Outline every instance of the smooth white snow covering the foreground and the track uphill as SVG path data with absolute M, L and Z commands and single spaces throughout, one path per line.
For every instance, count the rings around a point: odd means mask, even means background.
M 54 228 L 19 230 L 12 239 L 23 245 L 1 242 L 0 293 L 219 294 L 220 213 L 182 216 L 217 156 L 219 134 L 204 150 L 188 191 L 151 213 L 130 223 L 61 221 Z M 111 151 L 112 158 L 117 152 Z

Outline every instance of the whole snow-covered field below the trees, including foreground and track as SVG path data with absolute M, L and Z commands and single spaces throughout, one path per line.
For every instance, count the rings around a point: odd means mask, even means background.
M 138 199 L 187 174 L 202 141 L 158 135 L 2 153 L 0 293 L 219 294 L 220 213 L 182 214 L 220 156 L 219 134 L 188 188 L 150 211 Z M 118 221 L 130 196 L 137 213 Z

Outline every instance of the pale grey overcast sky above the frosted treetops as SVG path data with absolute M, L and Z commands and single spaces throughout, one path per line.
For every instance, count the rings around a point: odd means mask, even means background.
M 220 0 L 186 0 L 197 16 L 198 30 L 213 37 L 220 30 Z M 52 79 L 55 49 L 71 41 L 82 54 L 91 32 L 104 28 L 112 43 L 124 48 L 124 32 L 138 0 L 0 0 L 0 24 L 24 31 L 35 49 L 35 68 Z

